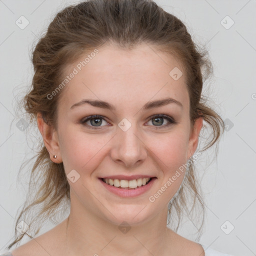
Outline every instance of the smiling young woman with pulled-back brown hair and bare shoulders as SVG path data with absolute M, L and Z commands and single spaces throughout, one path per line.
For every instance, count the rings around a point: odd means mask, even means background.
M 151 0 L 89 0 L 57 13 L 33 51 L 24 97 L 43 140 L 36 192 L 8 249 L 32 239 L 6 255 L 227 255 L 166 226 L 191 201 L 203 208 L 193 160 L 223 128 L 202 102 L 205 55 Z M 196 151 L 203 120 L 213 136 Z M 32 225 L 61 206 L 68 217 L 36 237 Z

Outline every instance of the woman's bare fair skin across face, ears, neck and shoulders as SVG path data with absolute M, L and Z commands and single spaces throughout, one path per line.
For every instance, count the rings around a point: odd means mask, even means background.
M 80 177 L 74 183 L 67 179 L 71 202 L 68 222 L 65 219 L 36 237 L 36 242 L 33 239 L 22 245 L 13 256 L 35 247 L 38 255 L 44 255 L 45 250 L 51 255 L 204 255 L 198 243 L 166 227 L 168 202 L 184 172 L 154 202 L 148 200 L 195 152 L 202 127 L 202 118 L 196 119 L 194 126 L 190 124 L 184 72 L 178 80 L 169 75 L 174 67 L 182 70 L 179 61 L 152 49 L 147 44 L 129 51 L 113 45 L 99 48 L 99 53 L 62 89 L 57 129 L 44 123 L 38 113 L 37 125 L 50 159 L 63 161 L 66 175 L 75 169 Z M 84 56 L 68 65 L 67 74 L 82 59 Z M 148 101 L 167 96 L 180 101 L 182 107 L 169 103 L 141 110 Z M 107 101 L 116 110 L 89 104 L 70 109 L 85 98 Z M 79 122 L 95 114 L 105 117 L 100 119 L 101 126 L 90 120 L 87 126 Z M 168 120 L 163 118 L 157 126 L 153 114 L 168 115 L 177 123 L 166 126 Z M 126 131 L 118 127 L 123 118 L 131 124 Z M 157 179 L 144 194 L 122 198 L 98 180 L 116 174 L 145 174 Z M 131 227 L 127 233 L 118 229 L 124 220 Z

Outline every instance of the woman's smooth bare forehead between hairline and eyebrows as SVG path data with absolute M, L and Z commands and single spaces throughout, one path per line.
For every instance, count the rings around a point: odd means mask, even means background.
M 183 68 L 172 55 L 146 43 L 132 50 L 106 45 L 94 52 L 87 52 L 65 68 L 66 75 L 74 70 L 76 74 L 61 91 L 59 103 L 64 101 L 63 107 L 83 98 L 130 104 L 171 96 L 186 104 Z

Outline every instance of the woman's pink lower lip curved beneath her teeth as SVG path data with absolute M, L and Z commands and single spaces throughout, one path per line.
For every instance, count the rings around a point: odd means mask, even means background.
M 140 194 L 145 193 L 147 190 L 150 189 L 150 187 L 153 185 L 154 181 L 155 181 L 156 177 L 151 178 L 151 180 L 146 184 L 146 185 L 142 185 L 139 186 L 135 189 L 123 189 L 123 188 L 118 188 L 115 186 L 111 186 L 107 183 L 105 183 L 102 179 L 99 178 L 99 181 L 102 183 L 102 185 L 109 190 L 110 192 L 117 194 L 121 197 L 135 197 L 138 196 Z

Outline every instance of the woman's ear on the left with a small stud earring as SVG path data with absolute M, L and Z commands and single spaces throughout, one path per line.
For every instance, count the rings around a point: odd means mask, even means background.
M 50 159 L 55 163 L 62 162 L 56 130 L 44 122 L 41 113 L 37 113 L 37 126 L 42 135 L 44 145 L 49 152 Z M 53 158 L 56 155 L 56 158 Z

